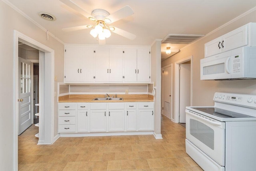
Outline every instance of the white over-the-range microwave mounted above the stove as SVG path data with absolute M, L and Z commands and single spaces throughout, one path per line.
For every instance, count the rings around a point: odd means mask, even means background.
M 241 47 L 200 60 L 201 80 L 256 79 L 256 47 Z

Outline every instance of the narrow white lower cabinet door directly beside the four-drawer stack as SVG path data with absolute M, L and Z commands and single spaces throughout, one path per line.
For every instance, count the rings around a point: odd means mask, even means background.
M 88 110 L 77 111 L 77 131 L 88 132 Z

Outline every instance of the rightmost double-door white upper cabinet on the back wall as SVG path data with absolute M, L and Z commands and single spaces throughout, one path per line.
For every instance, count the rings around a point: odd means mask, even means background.
M 124 82 L 150 82 L 150 50 L 124 50 Z

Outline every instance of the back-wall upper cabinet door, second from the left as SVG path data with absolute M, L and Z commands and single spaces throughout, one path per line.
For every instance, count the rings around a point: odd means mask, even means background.
M 82 48 L 80 57 L 80 82 L 94 82 L 94 49 Z

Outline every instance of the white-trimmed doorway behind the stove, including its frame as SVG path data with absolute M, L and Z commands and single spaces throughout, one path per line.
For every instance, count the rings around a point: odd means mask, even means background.
M 193 56 L 175 62 L 175 123 L 186 123 L 185 108 L 192 105 L 192 66 Z

